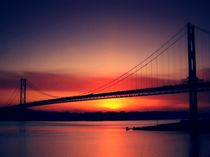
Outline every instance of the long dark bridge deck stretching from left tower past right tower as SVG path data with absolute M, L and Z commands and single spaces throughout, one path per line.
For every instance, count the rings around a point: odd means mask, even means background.
M 210 82 L 198 83 L 197 89 L 198 91 L 210 91 Z M 48 100 L 28 102 L 25 104 L 25 107 L 66 103 L 66 102 L 90 101 L 90 100 L 99 100 L 99 99 L 187 93 L 188 90 L 189 90 L 188 84 L 180 84 L 180 85 L 161 86 L 161 87 L 154 87 L 154 88 L 106 92 L 106 93 L 98 93 L 98 94 L 92 93 L 92 94 L 87 94 L 87 95 L 61 97 L 61 98 L 54 98 L 54 99 L 48 99 Z

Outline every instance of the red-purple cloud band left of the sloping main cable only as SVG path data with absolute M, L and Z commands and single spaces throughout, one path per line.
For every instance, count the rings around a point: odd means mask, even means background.
M 17 86 L 20 78 L 26 78 L 27 84 L 46 91 L 83 91 L 100 86 L 113 79 L 112 77 L 90 77 L 68 73 L 49 72 L 5 72 L 0 71 L 1 89 L 12 89 Z

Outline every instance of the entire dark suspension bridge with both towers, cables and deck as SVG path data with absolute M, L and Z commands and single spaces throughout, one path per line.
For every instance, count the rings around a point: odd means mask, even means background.
M 30 80 L 21 78 L 19 105 L 26 108 L 76 101 L 189 93 L 189 118 L 195 125 L 198 120 L 197 92 L 210 91 L 210 65 L 207 62 L 209 45 L 210 32 L 188 23 L 139 64 L 85 94 L 55 97 L 36 88 Z M 28 88 L 52 98 L 26 102 Z

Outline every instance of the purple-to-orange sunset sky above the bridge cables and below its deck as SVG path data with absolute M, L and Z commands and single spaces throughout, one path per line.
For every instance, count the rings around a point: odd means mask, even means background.
M 123 74 L 187 22 L 210 30 L 208 0 L 50 0 L 0 4 L 0 105 L 20 77 L 51 95 L 80 95 Z M 184 79 L 184 78 L 183 78 Z M 28 101 L 49 97 L 28 90 Z M 199 95 L 202 105 L 208 94 Z M 18 97 L 15 98 L 18 103 Z M 187 108 L 187 95 L 43 106 L 56 111 Z M 172 105 L 173 104 L 173 105 Z

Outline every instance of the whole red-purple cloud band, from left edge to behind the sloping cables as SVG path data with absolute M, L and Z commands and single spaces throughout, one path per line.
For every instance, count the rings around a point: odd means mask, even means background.
M 133 76 L 122 81 L 115 81 L 111 83 L 111 86 L 104 86 L 109 83 L 116 76 L 99 76 L 93 77 L 85 74 L 72 74 L 72 73 L 50 73 L 50 72 L 5 72 L 0 71 L 0 85 L 1 89 L 14 88 L 18 85 L 19 79 L 23 77 L 27 79 L 28 85 L 33 85 L 41 90 L 46 91 L 80 91 L 87 92 L 98 87 L 105 87 L 105 90 L 98 90 L 94 92 L 107 92 L 107 91 L 119 91 L 136 88 L 149 88 L 162 85 L 177 84 L 175 80 L 140 77 Z M 104 88 L 100 89 L 104 89 Z M 111 88 L 110 88 L 111 87 Z

